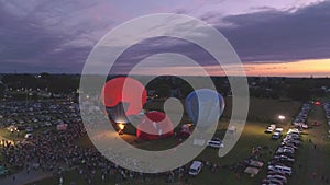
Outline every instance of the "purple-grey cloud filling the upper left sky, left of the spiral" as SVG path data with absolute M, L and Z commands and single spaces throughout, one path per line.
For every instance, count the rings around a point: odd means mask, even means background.
M 15 2 L 0 1 L 1 72 L 80 72 L 109 25 L 90 18 L 88 1 Z

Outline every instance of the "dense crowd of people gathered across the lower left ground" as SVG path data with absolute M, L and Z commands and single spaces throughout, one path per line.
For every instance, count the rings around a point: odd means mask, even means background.
M 158 174 L 129 171 L 109 161 L 96 148 L 76 144 L 75 140 L 82 137 L 86 137 L 82 123 L 72 123 L 66 131 L 35 135 L 32 139 L 15 144 L 3 140 L 2 162 L 20 170 L 24 169 L 26 173 L 52 172 L 59 182 L 66 181 L 64 171 L 70 171 L 77 173 L 86 184 L 122 181 L 143 183 L 153 178 L 168 183 L 189 183 L 189 164 Z M 220 164 L 204 163 L 211 172 L 220 169 Z

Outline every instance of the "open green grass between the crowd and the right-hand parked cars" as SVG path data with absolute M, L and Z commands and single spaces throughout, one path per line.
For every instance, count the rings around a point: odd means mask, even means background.
M 285 126 L 286 128 L 289 126 L 292 118 L 299 112 L 301 103 L 299 102 L 278 102 L 276 100 L 251 100 L 251 107 L 249 112 L 250 122 L 246 123 L 243 134 L 235 144 L 235 147 L 231 150 L 229 154 L 223 158 L 218 157 L 218 150 L 207 148 L 202 153 L 200 153 L 196 160 L 208 161 L 212 163 L 218 163 L 221 166 L 231 165 L 238 162 L 242 162 L 246 158 L 251 155 L 252 148 L 262 146 L 268 147 L 270 149 L 262 150 L 262 157 L 260 160 L 267 162 L 272 154 L 270 154 L 270 150 L 275 150 L 279 141 L 275 141 L 271 139 L 271 135 L 264 134 L 264 130 L 270 123 L 277 123 L 278 125 Z M 223 117 L 219 124 L 217 134 L 222 135 L 227 128 L 228 119 L 230 116 L 230 101 L 227 103 L 227 109 L 223 113 Z M 284 123 L 279 123 L 277 120 L 278 114 L 283 114 L 287 117 L 287 120 Z M 258 120 L 258 122 L 255 122 Z M 133 136 L 134 137 L 134 136 Z M 131 138 L 131 140 L 133 140 Z M 85 147 L 91 147 L 89 139 L 82 138 L 76 141 L 76 143 Z M 170 138 L 166 140 L 158 141 L 146 141 L 141 143 L 134 143 L 139 148 L 143 148 L 146 150 L 163 150 L 170 148 L 172 146 L 177 144 L 177 139 Z M 263 166 L 260 174 L 254 177 L 250 177 L 248 174 L 244 174 L 241 180 L 237 178 L 237 174 L 228 169 L 221 167 L 219 171 L 212 173 L 209 169 L 204 167 L 200 175 L 197 177 L 189 178 L 188 184 L 198 184 L 198 185 L 210 185 L 210 184 L 223 184 L 223 185 L 255 185 L 260 184 L 262 178 L 266 175 L 267 164 Z M 69 185 L 72 181 L 75 181 L 76 184 L 85 185 L 85 181 L 81 180 L 76 172 L 70 171 L 66 172 L 64 176 L 64 185 Z M 107 183 L 102 183 L 100 180 L 100 175 L 98 177 L 99 181 L 95 182 L 96 184 L 113 184 L 113 177 L 107 181 Z M 293 180 L 294 181 L 294 180 Z M 187 184 L 183 180 L 176 181 L 176 184 Z M 58 180 L 56 177 L 43 180 L 37 182 L 36 184 L 58 184 Z M 166 184 L 164 177 L 153 177 L 152 180 L 146 182 L 122 182 L 120 184 Z M 31 184 L 33 185 L 33 184 Z

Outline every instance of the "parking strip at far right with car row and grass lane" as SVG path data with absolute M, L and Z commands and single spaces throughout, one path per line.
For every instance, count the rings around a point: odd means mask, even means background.
M 280 138 L 262 184 L 329 184 L 328 106 L 328 103 L 304 104 Z

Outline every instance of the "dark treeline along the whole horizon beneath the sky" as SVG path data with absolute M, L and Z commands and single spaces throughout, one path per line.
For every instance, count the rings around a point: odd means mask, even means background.
M 114 77 L 111 77 L 114 78 Z M 110 79 L 111 79 L 110 78 Z M 208 88 L 208 77 L 133 77 L 140 81 L 153 79 L 146 89 L 154 91 L 158 97 L 186 97 L 194 89 Z M 69 93 L 79 88 L 79 74 L 4 74 L 0 83 L 0 95 L 6 89 L 47 90 L 52 93 Z M 231 88 L 226 77 L 211 78 L 216 89 L 223 96 L 231 95 Z M 328 78 L 248 78 L 250 96 L 262 99 L 283 99 L 308 101 L 329 96 L 330 79 Z M 191 86 L 190 84 L 195 84 Z M 91 84 L 92 85 L 92 84 Z

